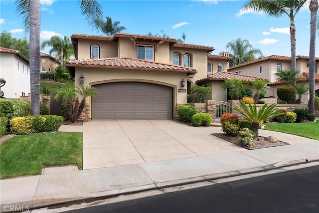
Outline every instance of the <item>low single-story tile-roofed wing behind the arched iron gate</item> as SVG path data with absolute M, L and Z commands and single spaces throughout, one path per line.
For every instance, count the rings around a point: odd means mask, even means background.
M 227 90 L 221 89 L 225 80 L 229 79 L 239 79 L 242 81 L 253 81 L 255 79 L 263 79 L 249 75 L 239 75 L 230 72 L 216 72 L 214 74 L 207 75 L 206 78 L 197 80 L 198 85 L 204 85 L 211 87 L 212 93 L 206 95 L 205 99 L 215 100 L 215 101 L 227 101 Z

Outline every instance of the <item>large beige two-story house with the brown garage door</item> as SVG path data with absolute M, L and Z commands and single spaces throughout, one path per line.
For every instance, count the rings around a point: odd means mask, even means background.
M 227 71 L 228 56 L 209 55 L 211 46 L 178 43 L 175 38 L 128 33 L 114 36 L 72 34 L 75 60 L 66 62 L 75 86 L 99 95 L 88 98 L 92 120 L 172 119 L 185 104 L 196 81 L 207 77 L 221 63 Z M 209 72 L 210 73 L 210 72 Z

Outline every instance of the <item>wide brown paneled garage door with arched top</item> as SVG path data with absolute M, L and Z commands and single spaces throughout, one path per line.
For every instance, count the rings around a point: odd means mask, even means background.
M 172 88 L 141 82 L 94 85 L 92 120 L 172 119 Z

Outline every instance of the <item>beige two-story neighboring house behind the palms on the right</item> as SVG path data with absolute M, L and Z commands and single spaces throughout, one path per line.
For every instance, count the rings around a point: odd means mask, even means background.
M 308 56 L 296 56 L 297 70 L 300 73 L 309 73 L 309 57 Z M 318 72 L 319 58 L 316 58 L 316 74 Z M 228 68 L 228 72 L 245 74 L 256 77 L 267 78 L 270 82 L 275 82 L 275 73 L 280 70 L 291 69 L 291 57 L 270 55 L 267 57 L 261 57 L 256 60 L 248 61 L 242 64 L 238 64 Z M 277 90 L 275 91 L 272 87 L 266 91 L 266 96 L 277 96 Z M 319 89 L 316 87 L 315 89 Z M 308 101 L 307 101 L 308 102 Z

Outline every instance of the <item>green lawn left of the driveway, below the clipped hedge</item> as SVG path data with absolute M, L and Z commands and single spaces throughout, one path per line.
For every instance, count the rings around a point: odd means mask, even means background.
M 39 175 L 42 168 L 77 165 L 82 170 L 82 133 L 18 135 L 0 145 L 0 179 Z

